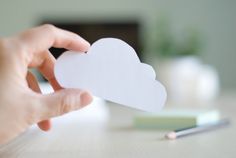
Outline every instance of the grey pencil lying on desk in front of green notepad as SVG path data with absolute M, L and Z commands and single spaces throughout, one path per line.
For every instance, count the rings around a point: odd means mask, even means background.
M 184 129 L 179 129 L 175 130 L 172 132 L 169 132 L 165 135 L 165 138 L 167 139 L 176 139 L 179 137 L 184 137 L 192 134 L 197 134 L 205 131 L 210 131 L 214 130 L 220 127 L 224 127 L 229 125 L 230 121 L 228 119 L 220 120 L 214 123 L 209 123 L 201 126 L 193 126 L 193 127 L 188 127 Z

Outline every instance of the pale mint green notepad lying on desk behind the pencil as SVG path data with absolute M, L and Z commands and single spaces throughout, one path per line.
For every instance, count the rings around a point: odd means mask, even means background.
M 134 118 L 134 126 L 147 129 L 180 129 L 218 121 L 218 110 L 163 110 L 157 114 L 142 114 Z

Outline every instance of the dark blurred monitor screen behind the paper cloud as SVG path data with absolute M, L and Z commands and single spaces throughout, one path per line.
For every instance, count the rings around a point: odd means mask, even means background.
M 140 44 L 140 26 L 134 22 L 53 22 L 44 23 L 53 24 L 59 28 L 66 29 L 79 34 L 91 44 L 104 37 L 119 38 L 131 45 L 137 55 L 141 58 Z M 50 51 L 57 58 L 65 49 L 51 48 Z

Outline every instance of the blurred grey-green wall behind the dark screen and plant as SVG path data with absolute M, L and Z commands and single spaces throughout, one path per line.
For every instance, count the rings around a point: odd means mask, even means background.
M 0 36 L 32 27 L 45 18 L 101 20 L 138 18 L 144 24 L 146 50 L 156 19 L 166 14 L 179 32 L 186 26 L 199 28 L 206 36 L 204 62 L 220 73 L 224 89 L 236 89 L 235 0 L 1 0 Z

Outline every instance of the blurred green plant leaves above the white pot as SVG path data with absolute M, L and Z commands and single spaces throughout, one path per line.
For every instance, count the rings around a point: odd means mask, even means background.
M 185 29 L 181 37 L 174 36 L 170 23 L 161 18 L 154 34 L 155 54 L 161 57 L 199 55 L 203 47 L 202 36 L 197 29 Z

